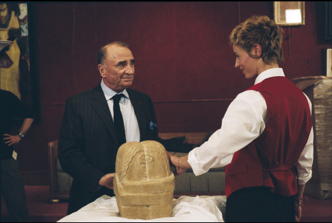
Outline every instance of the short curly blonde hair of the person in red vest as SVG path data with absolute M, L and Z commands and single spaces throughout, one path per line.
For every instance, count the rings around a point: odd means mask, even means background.
M 236 45 L 251 55 L 253 45 L 261 46 L 261 58 L 266 64 L 283 60 L 283 30 L 268 16 L 252 16 L 236 26 L 229 35 L 231 46 Z

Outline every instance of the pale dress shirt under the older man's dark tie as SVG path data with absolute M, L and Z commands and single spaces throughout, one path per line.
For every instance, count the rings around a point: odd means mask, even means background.
M 114 119 L 113 114 L 113 99 L 112 97 L 117 93 L 109 89 L 103 82 L 101 81 L 101 89 L 103 89 L 103 93 L 107 100 L 108 107 L 110 108 L 110 112 L 112 114 L 112 118 Z M 125 134 L 126 141 L 138 141 L 140 142 L 140 128 L 138 127 L 138 121 L 133 110 L 133 106 L 131 105 L 129 95 L 126 90 L 123 93 L 126 97 L 121 97 L 119 106 L 121 110 L 121 114 L 123 115 L 123 124 L 125 125 Z

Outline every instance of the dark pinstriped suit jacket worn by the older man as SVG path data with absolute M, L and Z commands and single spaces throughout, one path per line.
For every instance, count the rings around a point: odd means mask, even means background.
M 127 92 L 138 119 L 140 141 L 157 141 L 157 121 L 151 98 L 133 89 L 127 89 Z M 119 146 L 100 84 L 67 99 L 58 157 L 64 171 L 73 177 L 68 214 L 103 194 L 114 196 L 111 189 L 100 189 L 99 180 L 105 174 L 115 172 Z

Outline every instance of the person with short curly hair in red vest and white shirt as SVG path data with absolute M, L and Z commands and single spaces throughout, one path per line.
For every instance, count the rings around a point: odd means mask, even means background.
M 285 78 L 282 30 L 267 16 L 253 16 L 229 36 L 235 68 L 255 85 L 229 105 L 209 140 L 178 158 L 175 174 L 196 176 L 226 166 L 226 222 L 294 222 L 301 219 L 305 184 L 311 178 L 311 102 Z

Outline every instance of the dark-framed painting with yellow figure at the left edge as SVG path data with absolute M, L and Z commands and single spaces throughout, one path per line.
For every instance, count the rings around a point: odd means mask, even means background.
M 0 3 L 0 89 L 14 93 L 40 118 L 32 5 Z M 35 120 L 35 121 L 36 121 Z

